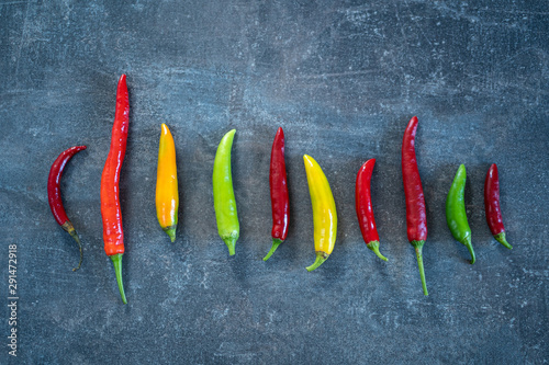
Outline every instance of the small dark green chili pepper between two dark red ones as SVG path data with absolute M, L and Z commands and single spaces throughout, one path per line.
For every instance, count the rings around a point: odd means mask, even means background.
M 466 166 L 461 164 L 446 197 L 446 221 L 453 238 L 463 243 L 471 253 L 471 264 L 473 264 L 475 258 L 471 243 L 471 228 L 469 228 L 469 223 L 467 221 L 466 203 L 463 199 L 466 180 Z

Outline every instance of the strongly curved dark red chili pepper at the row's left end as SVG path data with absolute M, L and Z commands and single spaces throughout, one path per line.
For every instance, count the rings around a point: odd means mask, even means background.
M 63 176 L 63 170 L 65 170 L 65 166 L 67 166 L 67 162 L 72 158 L 72 156 L 75 156 L 82 149 L 86 149 L 86 146 L 75 146 L 63 151 L 55 159 L 52 168 L 49 169 L 49 175 L 47 176 L 47 201 L 49 203 L 49 208 L 52 209 L 55 221 L 57 221 L 57 224 L 61 226 L 61 228 L 75 239 L 80 250 L 80 261 L 78 262 L 78 267 L 72 269 L 72 271 L 77 271 L 82 264 L 82 244 L 80 243 L 78 233 L 76 232 L 75 227 L 68 219 L 67 214 L 65 213 L 65 208 L 63 207 L 61 190 L 59 189 L 59 184 Z

